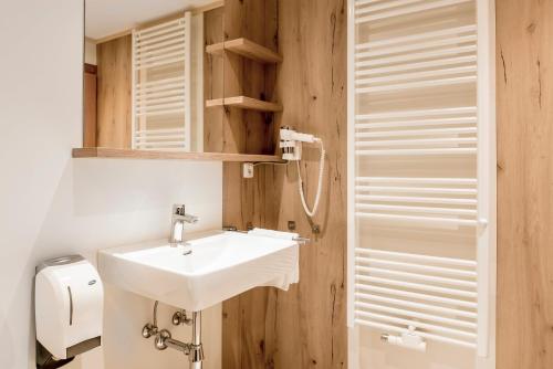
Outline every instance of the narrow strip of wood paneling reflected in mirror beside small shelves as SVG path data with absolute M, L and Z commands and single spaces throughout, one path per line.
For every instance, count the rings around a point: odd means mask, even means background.
M 223 35 L 223 10 L 217 8 L 204 14 L 205 44 L 211 45 L 222 42 Z M 204 95 L 205 101 L 222 98 L 223 95 L 223 59 L 204 54 Z M 225 152 L 223 108 L 204 109 L 204 150 L 206 152 Z

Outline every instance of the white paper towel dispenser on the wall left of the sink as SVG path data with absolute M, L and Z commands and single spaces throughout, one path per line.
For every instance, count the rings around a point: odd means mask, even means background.
M 38 265 L 34 304 L 38 368 L 58 368 L 101 345 L 104 289 L 95 267 L 83 256 L 56 257 Z M 51 357 L 44 358 L 48 354 Z M 60 365 L 39 366 L 44 359 Z

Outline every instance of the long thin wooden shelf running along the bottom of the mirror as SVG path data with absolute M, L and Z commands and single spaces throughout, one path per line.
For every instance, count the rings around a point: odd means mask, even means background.
M 104 147 L 74 148 L 73 158 L 200 160 L 229 162 L 284 162 L 273 155 L 226 154 L 226 152 L 179 152 L 156 150 L 111 149 Z

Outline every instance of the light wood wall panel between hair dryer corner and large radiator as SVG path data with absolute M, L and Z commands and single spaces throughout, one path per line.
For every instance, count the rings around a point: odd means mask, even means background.
M 327 167 L 313 222 L 303 211 L 294 166 L 282 181 L 281 208 L 293 207 L 299 233 L 313 243 L 301 249 L 299 286 L 276 293 L 274 362 L 276 368 L 346 368 L 346 2 L 280 0 L 279 41 L 284 62 L 276 93 L 285 109 L 278 126 L 321 137 Z M 302 170 L 312 203 L 319 150 L 305 150 Z M 279 217 L 279 229 L 285 230 L 288 220 Z

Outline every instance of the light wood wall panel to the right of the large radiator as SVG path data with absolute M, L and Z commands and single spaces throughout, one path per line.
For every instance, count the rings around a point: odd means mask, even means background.
M 497 1 L 498 369 L 553 368 L 553 1 Z

